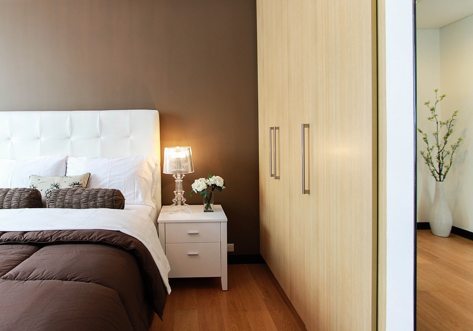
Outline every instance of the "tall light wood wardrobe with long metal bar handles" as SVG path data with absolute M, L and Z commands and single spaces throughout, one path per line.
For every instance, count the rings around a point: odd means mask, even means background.
M 375 17 L 257 0 L 261 254 L 308 331 L 376 329 Z

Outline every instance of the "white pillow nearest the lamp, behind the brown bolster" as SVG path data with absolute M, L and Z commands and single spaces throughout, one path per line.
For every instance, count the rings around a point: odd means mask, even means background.
M 68 157 L 66 175 L 90 172 L 88 188 L 117 189 L 127 204 L 155 206 L 153 171 L 157 158 L 131 156 L 125 158 Z

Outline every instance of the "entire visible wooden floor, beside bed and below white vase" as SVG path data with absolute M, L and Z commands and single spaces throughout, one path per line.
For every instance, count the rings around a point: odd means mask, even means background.
M 229 265 L 219 278 L 170 279 L 151 331 L 305 331 L 267 265 Z M 473 241 L 417 231 L 417 331 L 473 330 Z

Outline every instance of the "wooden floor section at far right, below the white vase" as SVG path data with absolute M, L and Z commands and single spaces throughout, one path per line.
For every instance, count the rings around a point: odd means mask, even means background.
M 473 330 L 473 241 L 417 231 L 417 331 Z

